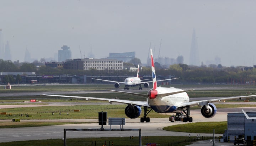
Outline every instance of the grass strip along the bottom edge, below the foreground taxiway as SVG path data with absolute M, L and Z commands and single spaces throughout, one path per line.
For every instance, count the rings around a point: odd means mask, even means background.
M 205 139 L 213 139 L 213 137 L 204 137 Z M 159 146 L 185 146 L 192 144 L 192 141 L 197 141 L 196 137 L 188 136 L 143 136 L 142 145 L 147 143 L 156 143 Z M 67 139 L 67 146 L 138 146 L 139 137 L 100 137 L 100 138 L 74 138 Z M 96 143 L 96 144 L 95 144 Z M 14 142 L 2 142 L 1 146 L 62 146 L 63 141 L 61 139 L 49 139 L 49 140 L 30 140 L 30 141 L 14 141 Z

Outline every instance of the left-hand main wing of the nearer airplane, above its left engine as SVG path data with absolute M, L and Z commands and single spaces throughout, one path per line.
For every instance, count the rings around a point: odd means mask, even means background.
M 69 97 L 69 98 L 86 99 L 87 101 L 89 101 L 90 99 L 102 100 L 102 101 L 108 101 L 109 103 L 118 102 L 118 103 L 126 103 L 126 104 L 131 104 L 131 105 L 149 107 L 148 102 L 146 102 L 146 101 L 131 101 L 131 100 L 106 99 L 106 98 L 83 97 L 83 96 L 68 96 L 68 95 L 50 95 L 50 94 L 42 94 L 42 95 L 44 95 L 44 96 L 57 96 L 57 97 Z

